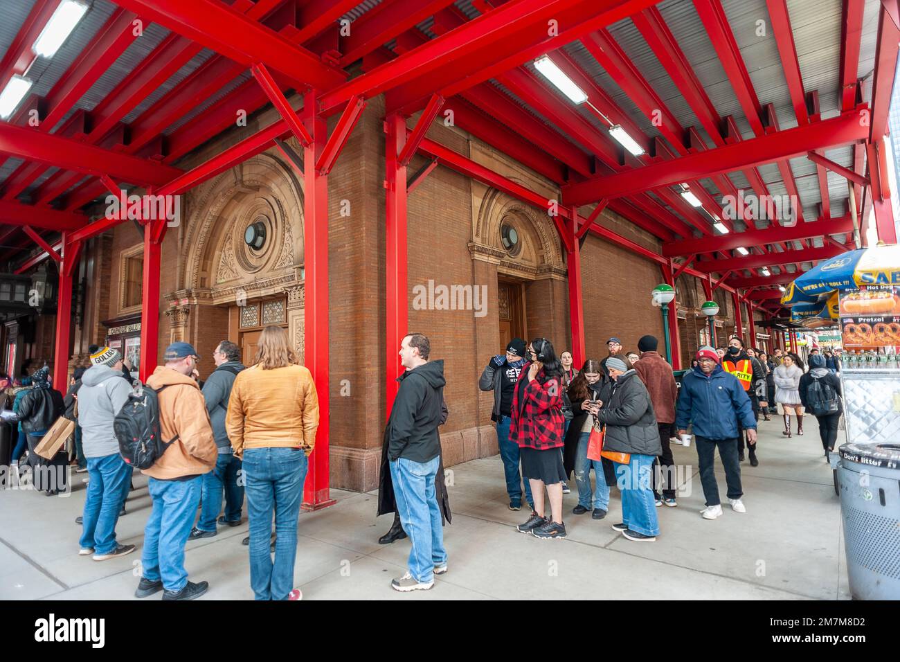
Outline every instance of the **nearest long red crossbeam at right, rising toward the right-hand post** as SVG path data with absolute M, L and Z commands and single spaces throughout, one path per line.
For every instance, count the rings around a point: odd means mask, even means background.
M 779 159 L 789 159 L 808 150 L 864 140 L 868 127 L 860 125 L 857 113 L 844 113 L 831 120 L 770 133 L 716 150 L 690 154 L 608 177 L 595 177 L 564 188 L 566 204 L 589 204 L 602 197 L 634 195 L 687 179 L 710 177 Z

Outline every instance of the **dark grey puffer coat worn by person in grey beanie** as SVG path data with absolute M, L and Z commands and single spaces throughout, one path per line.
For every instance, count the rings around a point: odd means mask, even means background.
M 619 375 L 606 386 L 600 399 L 603 406 L 597 414 L 607 424 L 603 449 L 617 453 L 662 455 L 660 431 L 647 387 L 634 369 Z

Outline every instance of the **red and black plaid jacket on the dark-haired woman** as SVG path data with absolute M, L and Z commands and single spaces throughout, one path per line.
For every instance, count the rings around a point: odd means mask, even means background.
M 534 381 L 528 381 L 530 366 L 522 368 L 513 393 L 509 440 L 529 449 L 560 448 L 565 418 L 559 377 L 547 379 L 542 369 Z

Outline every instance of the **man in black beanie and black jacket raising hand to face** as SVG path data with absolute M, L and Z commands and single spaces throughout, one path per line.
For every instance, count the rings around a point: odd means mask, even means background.
M 494 392 L 494 408 L 491 412 L 491 421 L 497 423 L 497 446 L 500 449 L 500 459 L 503 460 L 503 473 L 507 481 L 507 494 L 509 494 L 509 510 L 518 511 L 522 508 L 522 478 L 518 473 L 518 444 L 509 440 L 509 424 L 512 422 L 510 409 L 512 408 L 512 394 L 518 384 L 519 373 L 525 366 L 525 340 L 513 338 L 507 345 L 506 356 L 498 355 L 488 361 L 478 387 L 482 391 Z M 531 498 L 531 485 L 525 481 L 525 499 L 528 506 L 534 510 Z

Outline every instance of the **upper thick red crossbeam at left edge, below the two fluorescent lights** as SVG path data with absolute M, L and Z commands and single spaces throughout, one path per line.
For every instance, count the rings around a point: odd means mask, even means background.
M 0 152 L 89 175 L 105 172 L 133 184 L 163 184 L 181 173 L 147 159 L 0 122 Z

